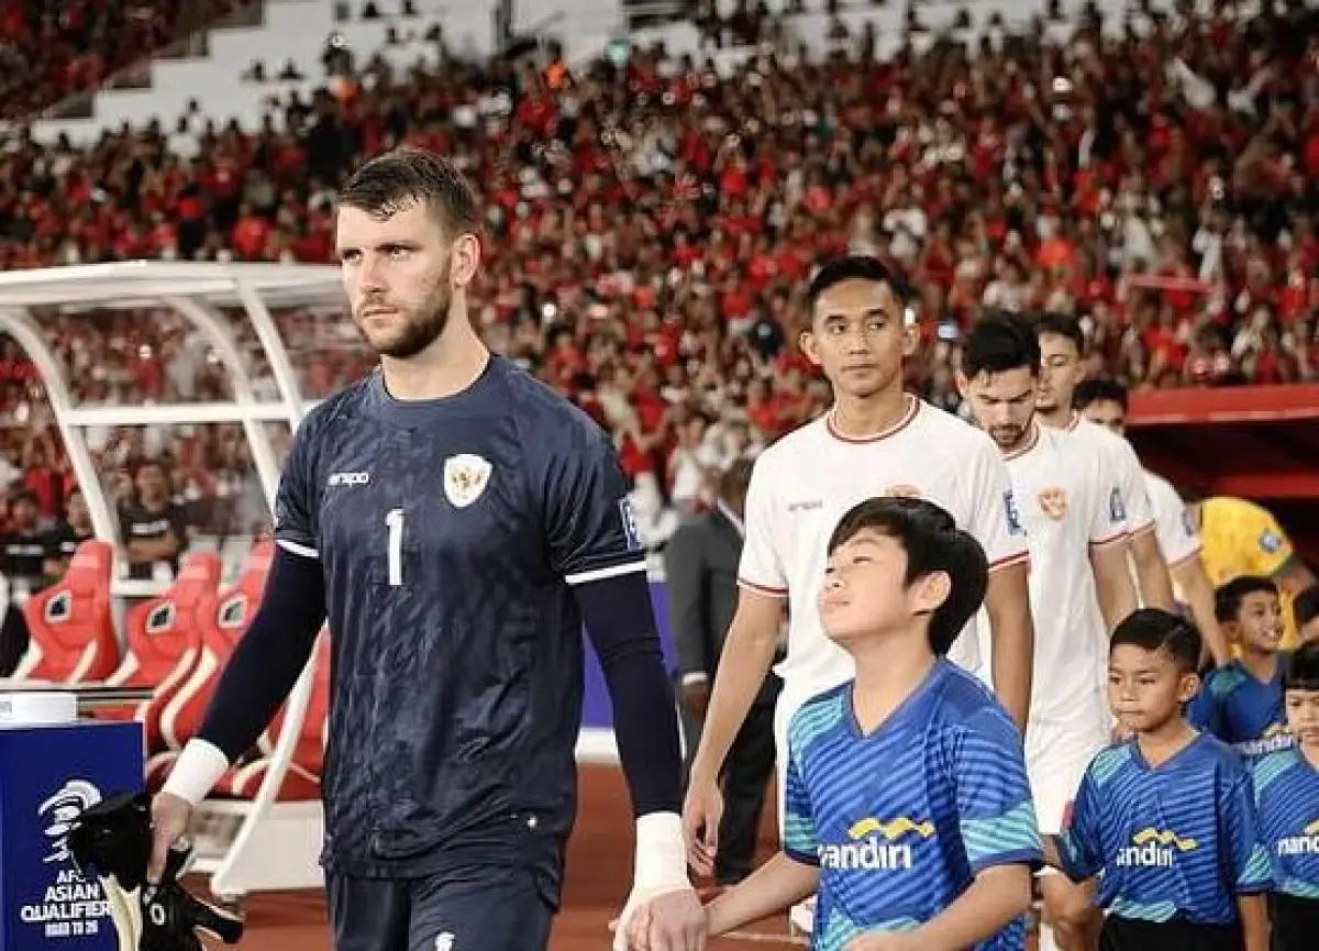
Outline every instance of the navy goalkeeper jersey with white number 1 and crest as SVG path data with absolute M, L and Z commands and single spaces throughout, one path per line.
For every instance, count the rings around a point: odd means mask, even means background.
M 557 864 L 582 710 L 572 586 L 645 570 L 608 437 L 497 356 L 442 400 L 396 401 L 375 373 L 298 429 L 274 534 L 324 572 L 326 867 Z

